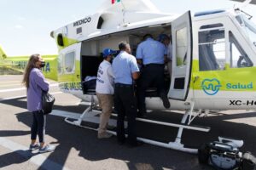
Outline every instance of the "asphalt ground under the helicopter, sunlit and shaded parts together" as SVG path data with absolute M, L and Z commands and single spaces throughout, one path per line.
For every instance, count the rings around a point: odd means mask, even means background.
M 0 76 L 0 169 L 212 169 L 199 164 L 197 156 L 151 144 L 131 148 L 117 144 L 116 138 L 97 139 L 96 131 L 74 127 L 61 116 L 47 117 L 46 141 L 56 150 L 38 154 L 30 152 L 32 116 L 26 110 L 26 89 L 21 76 Z M 82 113 L 87 105 L 70 94 L 62 94 L 56 82 L 50 82 L 55 95 L 55 111 Z M 178 111 L 152 111 L 148 118 L 180 122 Z M 211 127 L 209 133 L 184 130 L 182 143 L 195 148 L 218 136 L 243 139 L 241 151 L 256 155 L 256 113 L 253 111 L 219 111 L 198 117 L 193 124 Z M 96 125 L 94 125 L 96 126 Z M 161 142 L 174 141 L 177 128 L 137 123 L 138 136 Z

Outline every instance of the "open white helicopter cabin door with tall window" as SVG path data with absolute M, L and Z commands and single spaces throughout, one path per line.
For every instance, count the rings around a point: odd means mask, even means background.
M 192 26 L 190 11 L 172 21 L 171 99 L 185 100 L 189 93 L 192 61 Z

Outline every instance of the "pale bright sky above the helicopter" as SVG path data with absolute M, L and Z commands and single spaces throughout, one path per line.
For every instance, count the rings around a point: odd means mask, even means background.
M 55 41 L 49 36 L 50 31 L 94 14 L 103 1 L 106 0 L 1 0 L 0 46 L 8 56 L 57 54 Z M 151 2 L 160 11 L 171 14 L 233 8 L 234 4 L 238 4 L 230 0 Z M 256 23 L 256 5 L 249 5 L 244 10 L 254 16 L 252 20 Z

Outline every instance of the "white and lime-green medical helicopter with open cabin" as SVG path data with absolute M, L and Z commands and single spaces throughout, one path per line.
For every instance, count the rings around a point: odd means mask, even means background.
M 166 90 L 170 110 L 185 114 L 181 124 L 137 118 L 178 127 L 174 142 L 137 139 L 196 153 L 197 149 L 181 143 L 184 128 L 210 130 L 191 126 L 196 116 L 209 110 L 256 109 L 256 26 L 249 18 L 240 8 L 177 15 L 161 13 L 149 0 L 106 0 L 96 14 L 51 32 L 59 48 L 59 87 L 91 102 L 81 116 L 73 117 L 75 121 L 67 117 L 66 122 L 80 127 L 82 121 L 98 122 L 99 111 L 93 110 L 97 104 L 95 89 L 85 89 L 82 82 L 85 77 L 96 76 L 103 48 L 118 49 L 118 43 L 125 40 L 136 52 L 146 33 L 154 37 L 172 34 L 172 78 L 166 74 Z M 146 105 L 148 109 L 166 110 L 154 88 L 148 89 Z

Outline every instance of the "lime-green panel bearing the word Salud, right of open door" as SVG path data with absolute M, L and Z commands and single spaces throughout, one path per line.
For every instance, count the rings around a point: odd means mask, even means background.
M 192 66 L 190 88 L 201 90 L 202 82 L 208 88 L 211 83 L 211 86 L 215 87 L 219 82 L 220 91 L 256 90 L 256 67 L 230 68 L 230 65 L 226 65 L 223 71 L 199 71 L 198 60 L 193 60 Z

